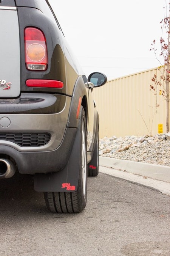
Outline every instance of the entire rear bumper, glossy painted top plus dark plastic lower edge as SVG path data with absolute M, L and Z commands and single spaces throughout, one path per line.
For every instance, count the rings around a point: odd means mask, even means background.
M 22 93 L 0 102 L 0 158 L 19 173 L 54 173 L 68 162 L 77 128 L 67 127 L 71 97 Z M 49 135 L 48 139 L 42 137 Z

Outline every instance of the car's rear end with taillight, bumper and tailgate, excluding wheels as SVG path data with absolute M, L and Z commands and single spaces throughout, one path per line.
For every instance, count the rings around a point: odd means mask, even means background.
M 45 0 L 1 0 L 0 19 L 0 177 L 62 170 L 77 129 L 60 26 Z

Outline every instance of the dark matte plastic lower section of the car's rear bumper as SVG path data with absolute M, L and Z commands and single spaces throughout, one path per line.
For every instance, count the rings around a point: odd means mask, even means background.
M 62 170 L 68 162 L 76 128 L 66 128 L 60 146 L 52 151 L 20 152 L 11 146 L 0 145 L 0 157 L 9 156 L 17 165 L 19 173 L 53 173 Z

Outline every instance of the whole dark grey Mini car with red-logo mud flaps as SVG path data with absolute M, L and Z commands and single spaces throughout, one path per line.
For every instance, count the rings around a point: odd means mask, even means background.
M 80 212 L 98 174 L 94 87 L 46 0 L 0 0 L 0 178 L 34 175 L 51 212 Z

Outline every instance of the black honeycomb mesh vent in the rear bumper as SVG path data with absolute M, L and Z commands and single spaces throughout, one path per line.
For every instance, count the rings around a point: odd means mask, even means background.
M 0 140 L 8 140 L 22 147 L 43 146 L 49 142 L 51 134 L 49 133 L 0 133 Z

